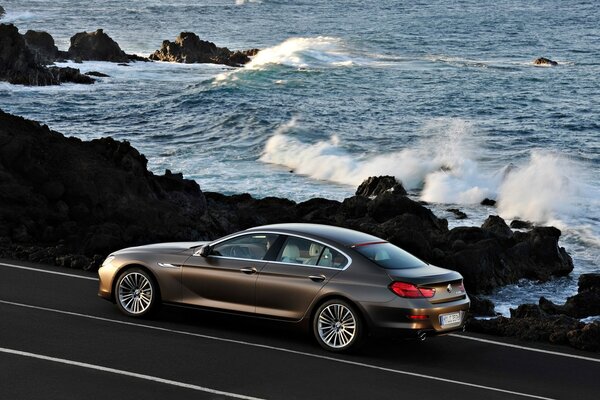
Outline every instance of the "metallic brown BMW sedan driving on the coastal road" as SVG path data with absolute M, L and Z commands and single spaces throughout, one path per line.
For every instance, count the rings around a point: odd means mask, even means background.
M 278 224 L 216 241 L 165 243 L 112 253 L 99 295 L 130 316 L 158 303 L 302 323 L 331 351 L 368 332 L 426 335 L 462 329 L 462 276 L 375 236 L 315 224 Z

